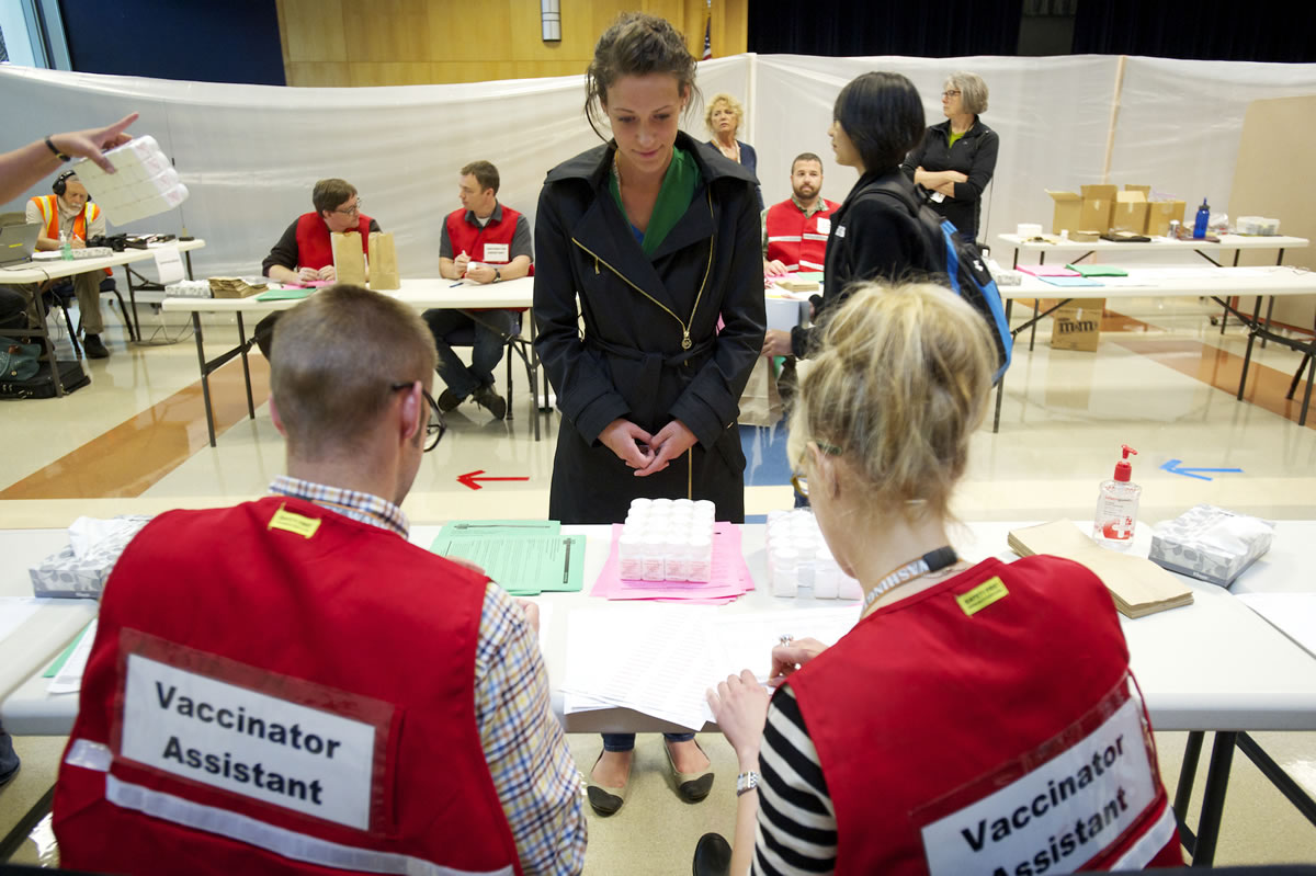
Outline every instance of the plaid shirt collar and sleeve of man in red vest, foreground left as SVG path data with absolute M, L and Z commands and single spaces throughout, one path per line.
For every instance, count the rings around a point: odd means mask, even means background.
M 315 502 L 403 538 L 409 523 L 392 502 L 280 475 L 270 492 Z M 549 672 L 525 613 L 494 581 L 484 589 L 475 643 L 475 723 L 484 760 L 525 873 L 579 873 L 586 822 L 580 773 L 553 717 Z

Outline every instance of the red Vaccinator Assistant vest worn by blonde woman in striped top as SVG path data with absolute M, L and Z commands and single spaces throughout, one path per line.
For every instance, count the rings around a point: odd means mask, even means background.
M 979 563 L 859 621 L 790 685 L 837 873 L 1183 864 L 1119 618 L 1076 563 Z

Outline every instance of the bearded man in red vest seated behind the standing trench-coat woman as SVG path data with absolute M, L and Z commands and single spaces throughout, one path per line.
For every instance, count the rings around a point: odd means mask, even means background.
M 813 153 L 796 155 L 791 162 L 791 197 L 763 210 L 763 274 L 821 272 L 830 217 L 840 207 L 822 197 L 822 159 Z M 763 355 L 791 355 L 791 333 L 769 329 Z

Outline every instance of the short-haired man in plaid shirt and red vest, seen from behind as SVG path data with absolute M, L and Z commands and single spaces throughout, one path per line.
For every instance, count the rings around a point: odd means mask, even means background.
M 397 506 L 443 434 L 429 330 L 336 285 L 274 350 L 288 474 L 161 514 L 107 583 L 55 787 L 62 864 L 579 873 L 538 614 L 411 543 Z

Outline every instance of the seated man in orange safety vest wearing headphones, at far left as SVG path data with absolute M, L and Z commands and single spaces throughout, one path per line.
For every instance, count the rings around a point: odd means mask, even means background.
M 88 238 L 105 234 L 105 216 L 87 196 L 87 187 L 82 184 L 76 174 L 64 171 L 55 178 L 50 191 L 51 195 L 38 195 L 28 200 L 28 224 L 41 226 L 41 231 L 37 234 L 38 250 L 58 250 L 61 233 L 67 237 L 68 245 L 75 250 L 86 249 Z M 78 297 L 83 350 L 87 351 L 89 359 L 104 359 L 109 355 L 109 350 L 100 339 L 100 333 L 105 328 L 100 314 L 100 283 L 108 274 L 107 270 L 75 274 L 68 280 L 57 280 L 54 289 L 41 289 L 36 283 L 17 284 L 13 288 L 20 289 L 28 299 L 29 325 L 39 325 L 45 318 L 41 293 L 50 291 L 61 295 L 63 289 L 58 287 L 71 281 L 72 292 Z

